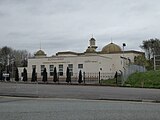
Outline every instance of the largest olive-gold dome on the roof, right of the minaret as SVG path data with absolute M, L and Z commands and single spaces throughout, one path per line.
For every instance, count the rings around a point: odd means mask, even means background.
M 108 45 L 106 45 L 106 46 L 104 46 L 103 48 L 102 48 L 102 53 L 117 53 L 117 52 L 121 52 L 122 50 L 121 50 L 121 47 L 120 46 L 118 46 L 118 45 L 116 45 L 116 44 L 114 44 L 114 43 L 110 43 L 110 44 L 108 44 Z

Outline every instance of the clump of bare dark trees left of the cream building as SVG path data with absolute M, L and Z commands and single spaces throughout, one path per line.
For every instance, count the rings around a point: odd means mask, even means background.
M 0 69 L 8 73 L 12 73 L 12 78 L 15 75 L 16 66 L 27 66 L 27 58 L 30 56 L 26 50 L 14 50 L 10 47 L 4 46 L 0 48 Z M 6 77 L 6 80 L 10 80 Z

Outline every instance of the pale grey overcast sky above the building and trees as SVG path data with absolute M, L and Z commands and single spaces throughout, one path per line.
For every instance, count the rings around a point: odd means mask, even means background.
M 140 50 L 160 38 L 160 0 L 0 0 L 0 47 L 84 52 L 111 42 Z

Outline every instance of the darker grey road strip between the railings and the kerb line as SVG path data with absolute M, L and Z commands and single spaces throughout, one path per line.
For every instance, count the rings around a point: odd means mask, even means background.
M 160 89 L 0 82 L 0 95 L 92 100 L 159 101 Z

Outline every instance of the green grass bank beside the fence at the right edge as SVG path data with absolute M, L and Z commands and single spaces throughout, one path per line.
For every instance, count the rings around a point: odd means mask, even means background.
M 160 71 L 134 73 L 128 77 L 125 85 L 131 87 L 160 88 Z

